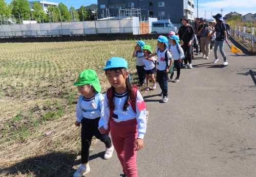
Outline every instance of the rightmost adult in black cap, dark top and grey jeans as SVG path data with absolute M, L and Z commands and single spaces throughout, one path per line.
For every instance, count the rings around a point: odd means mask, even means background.
M 212 31 L 212 33 L 210 35 L 210 37 L 211 37 L 212 35 L 214 35 L 216 33 L 216 39 L 215 39 L 215 45 L 214 45 L 214 55 L 215 55 L 214 63 L 217 63 L 219 61 L 218 55 L 217 55 L 217 50 L 218 50 L 218 47 L 220 47 L 220 53 L 224 60 L 223 65 L 227 66 L 228 65 L 227 57 L 226 57 L 226 54 L 223 49 L 224 41 L 226 41 L 228 43 L 226 26 L 225 26 L 225 23 L 223 22 L 224 20 L 223 20 L 223 17 L 221 14 L 216 14 L 212 17 L 214 17 L 216 19 L 215 29 L 214 29 L 214 31 Z

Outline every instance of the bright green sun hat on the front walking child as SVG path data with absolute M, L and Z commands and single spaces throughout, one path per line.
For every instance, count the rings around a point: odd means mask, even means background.
M 77 78 L 76 82 L 74 82 L 74 86 L 82 86 L 88 84 L 91 84 L 97 92 L 101 91 L 101 86 L 99 84 L 97 74 L 92 69 L 83 70 L 79 74 L 79 77 Z

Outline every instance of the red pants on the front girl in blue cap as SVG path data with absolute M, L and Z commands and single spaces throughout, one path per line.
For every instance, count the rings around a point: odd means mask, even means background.
M 111 138 L 118 159 L 123 167 L 123 173 L 127 177 L 137 177 L 136 155 L 134 142 L 138 136 L 136 118 L 127 121 L 110 121 Z

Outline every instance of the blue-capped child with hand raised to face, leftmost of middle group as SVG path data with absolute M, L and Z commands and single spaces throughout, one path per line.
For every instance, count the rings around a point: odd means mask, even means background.
M 142 48 L 145 45 L 144 41 L 138 41 L 134 46 L 134 52 L 132 57 L 136 57 L 136 69 L 139 77 L 139 86 L 142 86 L 146 82 L 146 74 L 144 70 L 144 54 Z

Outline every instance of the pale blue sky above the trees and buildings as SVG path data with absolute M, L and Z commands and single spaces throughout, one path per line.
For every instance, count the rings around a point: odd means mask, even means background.
M 30 1 L 30 0 L 29 0 Z M 31 0 L 32 1 L 32 0 Z M 97 0 L 48 0 L 49 2 L 54 3 L 63 3 L 70 8 L 73 6 L 78 9 L 81 5 L 89 6 L 91 4 L 97 4 Z M 166 0 L 165 0 L 166 1 Z M 177 0 L 181 1 L 181 0 Z M 238 12 L 242 15 L 247 13 L 256 13 L 256 3 L 255 0 L 194 0 L 195 12 L 194 16 L 197 17 L 197 1 L 198 1 L 198 16 L 206 17 L 207 19 L 211 18 L 212 15 L 221 13 L 220 9 L 223 9 L 223 16 L 229 12 Z M 11 0 L 7 0 L 7 3 L 10 3 Z M 205 15 L 206 12 L 206 15 Z

